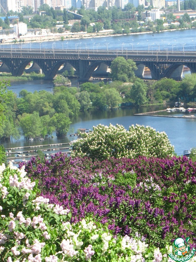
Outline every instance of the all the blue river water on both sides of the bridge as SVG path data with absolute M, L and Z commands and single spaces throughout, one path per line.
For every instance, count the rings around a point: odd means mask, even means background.
M 128 35 L 128 36 L 118 36 L 118 37 L 101 37 L 92 39 L 79 39 L 79 40 L 68 40 L 68 41 L 56 41 L 56 42 L 43 42 L 43 43 L 31 43 L 22 44 L 22 48 L 90 48 L 96 50 L 103 48 L 110 49 L 149 49 L 156 50 L 169 49 L 173 50 L 195 50 L 196 44 L 196 30 L 183 30 L 183 31 L 173 31 L 173 32 L 163 32 L 154 34 L 138 34 L 138 35 Z M 14 44 L 13 44 L 14 45 Z M 17 44 L 19 45 L 19 44 Z M 21 45 L 20 45 L 21 46 Z M 73 86 L 77 86 L 77 80 L 73 80 Z M 46 80 L 35 80 L 28 82 L 15 82 L 9 87 L 17 95 L 22 89 L 26 89 L 29 92 L 46 90 L 51 92 L 53 87 L 52 81 Z M 155 117 L 155 116 L 145 116 L 145 115 L 134 115 L 140 112 L 156 111 L 166 109 L 167 106 L 149 106 L 140 108 L 119 108 L 108 111 L 89 111 L 80 112 L 77 116 L 71 119 L 72 124 L 70 126 L 70 133 L 77 132 L 78 128 L 91 129 L 97 124 L 113 125 L 120 124 L 126 129 L 132 124 L 140 124 L 144 126 L 151 126 L 156 129 L 156 131 L 165 131 L 172 145 L 175 147 L 175 152 L 178 155 L 183 154 L 183 150 L 187 150 L 196 147 L 196 119 L 187 118 L 168 118 L 168 117 Z M 171 115 L 171 113 L 168 113 Z M 194 113 L 193 113 L 194 114 Z M 182 115 L 179 113 L 179 115 Z M 196 115 L 196 114 L 195 114 Z M 10 143 L 2 143 L 5 148 L 10 147 L 21 147 L 29 145 L 38 144 L 53 144 L 53 143 L 69 143 L 71 140 L 77 139 L 77 137 L 57 138 L 55 133 L 53 138 L 48 137 L 44 141 L 25 141 L 23 137 L 19 141 L 11 141 Z

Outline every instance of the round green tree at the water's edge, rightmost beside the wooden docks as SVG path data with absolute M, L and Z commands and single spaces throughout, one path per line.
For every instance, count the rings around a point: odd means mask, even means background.
M 70 128 L 70 118 L 67 116 L 67 114 L 54 114 L 51 119 L 53 125 L 56 129 L 57 136 L 66 135 Z

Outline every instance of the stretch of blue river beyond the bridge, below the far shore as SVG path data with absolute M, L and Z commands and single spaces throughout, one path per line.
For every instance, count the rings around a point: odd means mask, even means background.
M 195 51 L 196 30 L 181 29 L 160 33 L 135 33 L 122 36 L 102 36 L 95 38 L 65 39 L 63 41 L 46 41 L 32 43 L 16 43 L 2 45 L 13 50 L 19 49 L 100 49 L 122 50 L 149 50 L 152 51 Z M 2 48 L 2 47 L 1 47 Z

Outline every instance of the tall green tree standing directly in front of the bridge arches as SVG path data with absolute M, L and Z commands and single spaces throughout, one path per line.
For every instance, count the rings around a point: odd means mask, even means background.
M 125 60 L 124 57 L 117 57 L 111 62 L 112 80 L 128 82 L 134 76 L 137 66 L 133 60 Z

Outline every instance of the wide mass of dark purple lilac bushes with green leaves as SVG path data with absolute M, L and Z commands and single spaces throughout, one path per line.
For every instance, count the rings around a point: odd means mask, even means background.
M 159 248 L 179 236 L 196 243 L 195 170 L 187 157 L 92 162 L 62 153 L 51 162 L 32 158 L 25 167 L 29 177 L 39 178 L 41 196 L 71 210 L 72 223 L 95 217 L 114 235 L 138 232 Z

